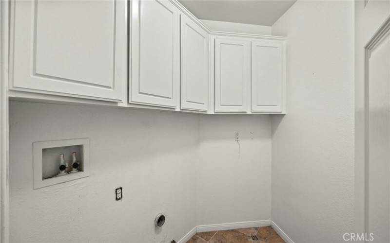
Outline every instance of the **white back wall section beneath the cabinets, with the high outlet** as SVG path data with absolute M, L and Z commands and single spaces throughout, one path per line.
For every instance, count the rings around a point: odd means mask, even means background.
M 206 115 L 199 131 L 198 225 L 269 220 L 271 117 Z

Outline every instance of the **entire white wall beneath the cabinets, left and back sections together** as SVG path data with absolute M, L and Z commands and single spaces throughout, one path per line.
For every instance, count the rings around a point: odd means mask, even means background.
M 86 137 L 90 176 L 33 190 L 32 142 Z M 11 102 L 11 242 L 170 242 L 198 224 L 269 219 L 270 164 L 267 115 Z

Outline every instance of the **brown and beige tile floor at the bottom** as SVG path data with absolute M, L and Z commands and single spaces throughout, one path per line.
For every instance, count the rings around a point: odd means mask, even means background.
M 251 236 L 258 240 L 252 240 Z M 271 226 L 196 233 L 187 243 L 284 243 Z

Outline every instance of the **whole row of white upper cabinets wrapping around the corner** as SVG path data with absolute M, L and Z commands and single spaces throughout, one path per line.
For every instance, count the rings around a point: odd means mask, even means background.
M 11 98 L 286 112 L 285 37 L 210 31 L 176 0 L 10 6 Z

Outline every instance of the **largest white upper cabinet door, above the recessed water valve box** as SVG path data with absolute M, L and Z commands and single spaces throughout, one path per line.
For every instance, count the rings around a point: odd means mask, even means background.
M 121 101 L 126 1 L 12 1 L 10 89 Z

